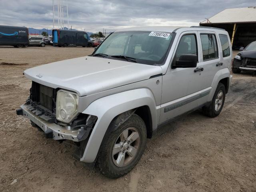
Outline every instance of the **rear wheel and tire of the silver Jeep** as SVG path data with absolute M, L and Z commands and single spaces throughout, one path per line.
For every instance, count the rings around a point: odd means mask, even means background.
M 203 113 L 209 117 L 216 117 L 220 114 L 226 97 L 226 88 L 224 84 L 219 83 L 214 96 L 212 98 L 212 102 L 209 106 L 203 107 Z

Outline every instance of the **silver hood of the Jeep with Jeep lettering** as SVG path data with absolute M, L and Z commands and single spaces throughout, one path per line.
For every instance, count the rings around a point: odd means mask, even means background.
M 72 90 L 86 96 L 161 74 L 160 66 L 151 66 L 100 57 L 80 57 L 30 68 L 24 71 L 34 82 Z

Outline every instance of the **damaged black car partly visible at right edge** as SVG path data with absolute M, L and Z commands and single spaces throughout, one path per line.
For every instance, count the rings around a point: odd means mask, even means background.
M 240 73 L 243 70 L 256 71 L 256 41 L 251 42 L 246 48 L 241 47 L 232 64 L 232 72 Z

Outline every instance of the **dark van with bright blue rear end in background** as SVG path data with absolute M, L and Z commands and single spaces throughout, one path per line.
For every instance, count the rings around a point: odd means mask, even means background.
M 90 37 L 84 31 L 77 30 L 64 30 L 54 29 L 52 30 L 53 45 L 58 47 L 67 46 L 82 46 L 86 47 L 90 43 Z

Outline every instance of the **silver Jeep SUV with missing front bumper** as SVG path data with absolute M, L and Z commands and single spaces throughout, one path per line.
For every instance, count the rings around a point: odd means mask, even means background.
M 139 27 L 113 32 L 90 56 L 24 71 L 30 96 L 18 115 L 105 176 L 127 174 L 162 125 L 198 108 L 220 114 L 228 92 L 228 32 Z

